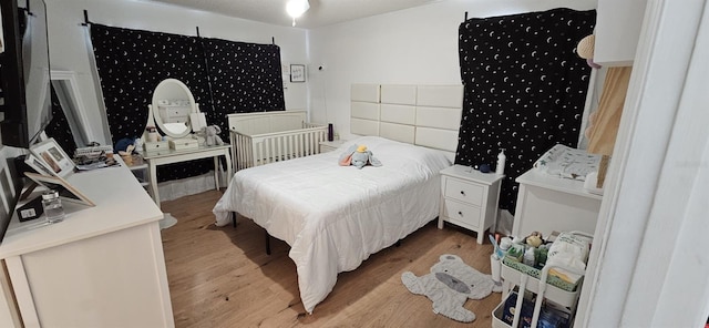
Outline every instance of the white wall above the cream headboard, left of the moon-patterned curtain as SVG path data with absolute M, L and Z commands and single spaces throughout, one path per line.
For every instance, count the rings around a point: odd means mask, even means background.
M 458 28 L 469 18 L 589 10 L 596 0 L 446 0 L 309 31 L 310 115 L 349 135 L 352 83 L 461 84 Z M 319 65 L 323 71 L 318 71 Z

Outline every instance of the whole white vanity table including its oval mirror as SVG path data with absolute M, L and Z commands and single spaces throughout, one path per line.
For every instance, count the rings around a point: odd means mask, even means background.
M 165 79 L 153 91 L 152 103 L 143 141 L 145 152 L 143 160 L 147 163 L 150 186 L 148 192 L 153 201 L 160 206 L 157 189 L 157 166 L 214 158 L 214 181 L 219 189 L 219 156 L 226 160 L 226 182 L 232 178 L 232 146 L 229 144 L 204 144 L 204 139 L 197 139 L 193 132 L 199 132 L 206 126 L 204 114 L 199 113 L 199 104 L 195 102 L 187 85 L 179 80 Z M 158 139 L 157 130 L 166 140 Z

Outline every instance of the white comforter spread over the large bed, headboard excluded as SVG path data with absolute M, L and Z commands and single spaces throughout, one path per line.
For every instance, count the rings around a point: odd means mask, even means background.
M 382 166 L 339 166 L 352 143 Z M 332 290 L 338 273 L 357 268 L 439 214 L 442 152 L 363 136 L 338 151 L 239 171 L 215 205 L 217 225 L 238 212 L 290 245 L 308 312 Z

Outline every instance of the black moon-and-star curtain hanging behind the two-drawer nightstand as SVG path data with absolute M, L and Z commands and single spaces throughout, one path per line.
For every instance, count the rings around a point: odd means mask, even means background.
M 494 167 L 504 148 L 501 208 L 514 214 L 514 181 L 544 152 L 578 142 L 590 68 L 576 44 L 595 21 L 595 10 L 559 8 L 461 23 L 464 99 L 455 163 Z

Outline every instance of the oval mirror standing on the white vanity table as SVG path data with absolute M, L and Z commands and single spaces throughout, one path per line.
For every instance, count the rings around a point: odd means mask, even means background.
M 184 137 L 192 132 L 189 114 L 197 112 L 192 92 L 179 80 L 166 79 L 153 92 L 155 124 L 166 135 Z

